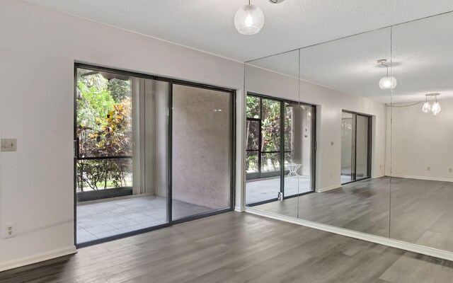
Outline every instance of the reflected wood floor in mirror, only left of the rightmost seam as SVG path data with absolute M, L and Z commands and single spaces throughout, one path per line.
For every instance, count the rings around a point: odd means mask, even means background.
M 388 237 L 390 178 L 362 180 L 253 208 Z

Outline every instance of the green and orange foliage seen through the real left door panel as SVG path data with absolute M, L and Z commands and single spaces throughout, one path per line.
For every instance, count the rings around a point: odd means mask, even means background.
M 99 157 L 77 163 L 79 191 L 98 190 L 100 185 L 122 187 L 132 173 L 130 158 L 102 159 L 105 156 L 132 156 L 130 81 L 107 80 L 100 74 L 79 69 L 77 76 L 77 137 L 79 154 Z

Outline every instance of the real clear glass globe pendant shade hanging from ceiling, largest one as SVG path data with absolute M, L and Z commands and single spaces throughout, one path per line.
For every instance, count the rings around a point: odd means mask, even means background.
M 255 5 L 244 5 L 234 15 L 234 26 L 243 35 L 254 35 L 263 25 L 263 11 Z

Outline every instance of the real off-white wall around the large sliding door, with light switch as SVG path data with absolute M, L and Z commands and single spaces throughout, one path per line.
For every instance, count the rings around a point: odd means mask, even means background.
M 0 239 L 0 270 L 74 251 L 74 61 L 243 87 L 239 62 L 0 1 L 0 136 L 18 139 L 18 151 L 0 154 L 0 225 L 17 225 L 16 237 Z

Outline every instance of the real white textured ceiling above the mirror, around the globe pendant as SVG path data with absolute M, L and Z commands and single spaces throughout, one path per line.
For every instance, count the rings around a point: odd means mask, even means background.
M 240 62 L 453 10 L 451 0 L 252 0 L 265 25 L 241 35 L 233 19 L 246 0 L 24 1 Z

